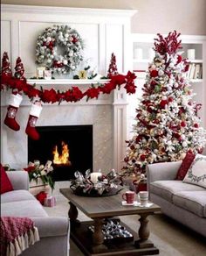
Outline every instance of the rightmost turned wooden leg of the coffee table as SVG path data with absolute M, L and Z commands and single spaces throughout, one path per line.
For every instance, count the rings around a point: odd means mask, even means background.
M 153 247 L 154 244 L 148 240 L 149 237 L 149 228 L 148 228 L 148 213 L 141 213 L 140 214 L 140 229 L 139 229 L 139 240 L 135 241 L 134 244 L 138 247 L 138 248 L 148 248 L 148 247 Z

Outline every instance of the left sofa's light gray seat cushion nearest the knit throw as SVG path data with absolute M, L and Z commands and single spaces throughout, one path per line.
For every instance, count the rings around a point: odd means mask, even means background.
M 1 216 L 10 217 L 48 217 L 37 200 L 24 200 L 1 204 Z

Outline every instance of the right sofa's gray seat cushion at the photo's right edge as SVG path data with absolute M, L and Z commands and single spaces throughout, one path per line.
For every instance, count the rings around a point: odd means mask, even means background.
M 199 217 L 206 217 L 206 190 L 181 191 L 173 196 L 173 203 L 185 210 L 189 210 Z

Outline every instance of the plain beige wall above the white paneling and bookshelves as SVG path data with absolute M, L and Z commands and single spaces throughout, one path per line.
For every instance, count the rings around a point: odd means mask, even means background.
M 205 0 L 2 0 L 2 4 L 31 4 L 138 10 L 132 32 L 206 35 Z

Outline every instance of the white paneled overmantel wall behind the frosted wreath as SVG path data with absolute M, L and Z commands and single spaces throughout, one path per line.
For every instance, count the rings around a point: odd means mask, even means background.
M 130 17 L 135 11 L 109 12 L 75 8 L 11 6 L 4 5 L 2 8 L 1 56 L 4 51 L 8 52 L 13 68 L 17 56 L 21 56 L 26 77 L 36 75 L 37 72 L 35 46 L 38 35 L 47 26 L 55 24 L 67 24 L 79 32 L 85 45 L 84 60 L 89 58 L 91 67 L 97 67 L 100 74 L 106 75 L 112 53 L 116 55 L 120 73 L 127 72 L 131 67 Z M 80 16 L 79 13 L 81 13 Z

